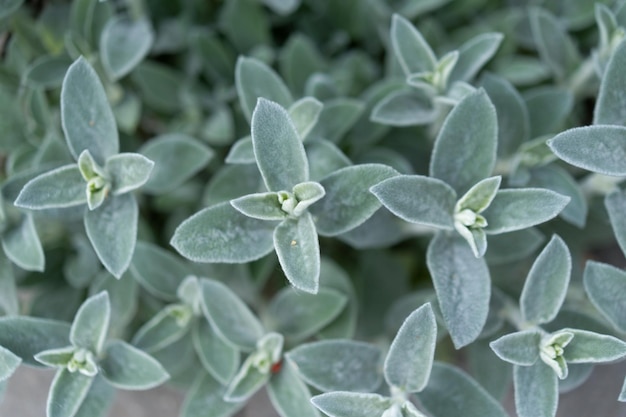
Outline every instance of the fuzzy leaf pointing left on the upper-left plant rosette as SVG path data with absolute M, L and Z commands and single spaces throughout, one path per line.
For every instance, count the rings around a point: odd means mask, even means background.
M 65 165 L 28 181 L 15 205 L 33 210 L 78 206 L 87 203 L 86 190 L 78 165 Z

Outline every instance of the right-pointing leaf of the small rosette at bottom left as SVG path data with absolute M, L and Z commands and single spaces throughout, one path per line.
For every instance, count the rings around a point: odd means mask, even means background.
M 100 369 L 104 378 L 116 388 L 146 390 L 169 378 L 156 359 L 121 340 L 107 344 L 105 355 L 100 360 Z

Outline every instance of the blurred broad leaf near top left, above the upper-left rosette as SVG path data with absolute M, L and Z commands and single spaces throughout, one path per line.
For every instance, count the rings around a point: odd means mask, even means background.
M 112 81 L 131 72 L 150 51 L 154 32 L 147 19 L 118 16 L 109 20 L 100 36 L 102 66 Z

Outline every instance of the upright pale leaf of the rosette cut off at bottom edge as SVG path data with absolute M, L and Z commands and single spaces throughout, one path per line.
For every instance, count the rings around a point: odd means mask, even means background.
M 435 357 L 437 321 L 430 303 L 412 312 L 402 323 L 385 358 L 385 379 L 403 392 L 426 386 Z

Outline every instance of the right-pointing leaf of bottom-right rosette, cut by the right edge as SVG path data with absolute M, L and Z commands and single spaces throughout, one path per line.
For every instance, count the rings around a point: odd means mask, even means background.
M 626 356 L 626 342 L 614 336 L 588 330 L 563 329 L 574 335 L 564 348 L 567 363 L 613 362 Z

